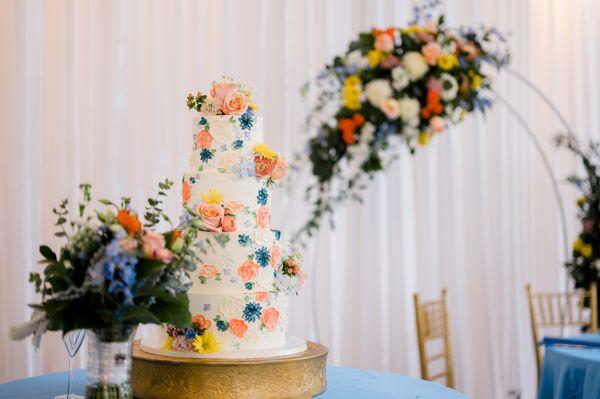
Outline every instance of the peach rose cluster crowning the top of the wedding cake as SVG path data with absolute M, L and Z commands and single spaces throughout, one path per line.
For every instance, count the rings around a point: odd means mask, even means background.
M 258 109 L 252 100 L 251 87 L 232 79 L 213 82 L 208 94 L 191 93 L 187 106 L 205 115 L 243 115 L 248 109 Z

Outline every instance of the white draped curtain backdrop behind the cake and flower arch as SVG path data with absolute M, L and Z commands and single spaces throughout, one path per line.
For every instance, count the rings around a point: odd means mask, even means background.
M 358 31 L 406 24 L 412 5 L 0 1 L 0 381 L 66 368 L 56 334 L 37 352 L 6 337 L 36 299 L 27 277 L 38 245 L 59 244 L 50 210 L 61 198 L 90 182 L 96 198 L 127 194 L 141 207 L 159 179 L 179 181 L 192 141 L 185 96 L 223 74 L 257 88 L 274 148 L 302 149 L 300 86 Z M 512 32 L 512 67 L 581 137 L 598 138 L 597 1 L 446 0 L 443 9 L 450 25 Z M 534 127 L 558 178 L 576 170 L 552 148 L 560 126 L 531 91 L 506 74 L 496 87 Z M 573 235 L 575 192 L 560 189 Z M 298 226 L 301 197 L 278 194 L 275 225 Z M 293 301 L 291 333 L 329 346 L 331 365 L 418 376 L 412 294 L 447 287 L 457 388 L 534 396 L 524 285 L 564 287 L 563 237 L 550 179 L 506 108 L 468 117 L 414 158 L 402 154 L 336 224 L 306 254 L 310 284 Z

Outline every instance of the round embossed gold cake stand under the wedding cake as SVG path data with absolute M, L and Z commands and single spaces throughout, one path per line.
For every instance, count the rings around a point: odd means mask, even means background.
M 261 359 L 161 356 L 133 343 L 131 385 L 140 399 L 310 398 L 325 391 L 327 347 Z

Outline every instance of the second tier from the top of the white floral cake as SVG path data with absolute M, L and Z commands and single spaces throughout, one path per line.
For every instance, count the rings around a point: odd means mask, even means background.
M 202 195 L 207 196 L 210 190 L 215 190 L 222 194 L 225 207 L 235 212 L 234 231 L 269 230 L 271 189 L 265 180 L 254 177 L 238 179 L 226 173 L 202 172 L 184 174 L 183 184 L 189 184 L 190 195 L 186 204 L 194 211 L 198 212 L 198 206 L 204 202 Z

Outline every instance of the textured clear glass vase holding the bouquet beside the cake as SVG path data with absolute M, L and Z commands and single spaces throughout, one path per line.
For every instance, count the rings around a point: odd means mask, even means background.
M 86 399 L 131 399 L 133 327 L 88 332 Z

